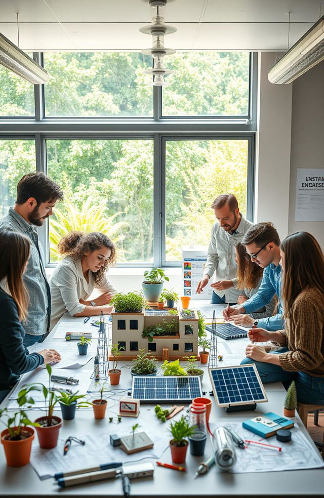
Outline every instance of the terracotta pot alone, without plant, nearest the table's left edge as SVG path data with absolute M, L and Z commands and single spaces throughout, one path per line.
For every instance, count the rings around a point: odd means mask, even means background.
M 22 467 L 29 464 L 31 443 L 35 437 L 35 431 L 31 427 L 24 427 L 22 431 L 28 433 L 29 436 L 19 441 L 5 439 L 9 434 L 8 429 L 5 429 L 1 433 L 1 442 L 4 445 L 7 465 L 9 467 Z

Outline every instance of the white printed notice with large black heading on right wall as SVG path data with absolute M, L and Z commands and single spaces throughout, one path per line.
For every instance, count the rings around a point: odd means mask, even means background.
M 324 221 L 324 168 L 298 168 L 295 221 Z

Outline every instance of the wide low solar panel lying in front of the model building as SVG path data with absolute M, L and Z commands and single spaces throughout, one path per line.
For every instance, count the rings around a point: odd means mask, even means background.
M 198 376 L 133 377 L 131 397 L 140 399 L 142 403 L 189 402 L 201 396 L 203 393 Z

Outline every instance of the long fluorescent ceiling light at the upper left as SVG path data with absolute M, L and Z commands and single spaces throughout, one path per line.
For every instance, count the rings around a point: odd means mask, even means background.
M 34 85 L 46 83 L 48 72 L 0 33 L 0 64 Z

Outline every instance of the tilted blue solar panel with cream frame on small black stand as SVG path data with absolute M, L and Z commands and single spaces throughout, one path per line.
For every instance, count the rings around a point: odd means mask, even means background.
M 268 401 L 254 364 L 210 368 L 209 376 L 216 403 L 226 411 L 255 409 L 256 403 Z

